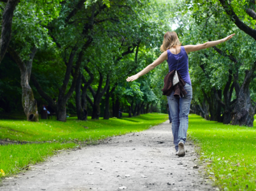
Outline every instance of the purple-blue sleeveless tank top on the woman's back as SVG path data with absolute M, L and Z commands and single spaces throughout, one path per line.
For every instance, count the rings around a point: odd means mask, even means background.
M 184 47 L 183 46 L 180 47 L 180 53 L 178 53 L 178 54 L 173 54 L 168 49 L 167 54 L 168 54 L 167 63 L 168 63 L 168 66 L 169 66 L 169 72 L 173 71 L 173 70 L 176 70 L 178 59 L 179 59 L 179 56 L 180 56 L 177 71 L 180 73 L 184 82 L 191 85 L 191 80 L 190 80 L 190 76 L 189 76 L 189 73 L 188 73 L 188 54 L 186 53 Z

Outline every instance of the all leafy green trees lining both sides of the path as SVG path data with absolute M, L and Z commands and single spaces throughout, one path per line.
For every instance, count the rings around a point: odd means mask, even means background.
M 253 126 L 254 0 L 3 0 L 1 8 L 0 103 L 5 112 L 18 108 L 21 95 L 28 120 L 38 120 L 37 106 L 45 101 L 60 121 L 66 120 L 67 107 L 80 120 L 88 114 L 118 116 L 120 106 L 129 116 L 165 111 L 160 89 L 166 63 L 136 82 L 125 79 L 160 55 L 163 35 L 176 23 L 183 45 L 236 33 L 227 43 L 189 55 L 191 110 L 208 120 Z

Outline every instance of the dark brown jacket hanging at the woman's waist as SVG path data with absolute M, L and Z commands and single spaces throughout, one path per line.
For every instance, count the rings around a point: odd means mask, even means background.
M 176 70 L 170 71 L 165 77 L 164 77 L 164 88 L 162 89 L 163 95 L 169 96 L 172 91 L 174 91 L 174 96 L 175 97 L 184 97 L 184 95 L 187 94 L 186 90 L 184 89 L 184 85 L 186 84 L 184 80 L 182 79 L 180 73 L 178 73 L 179 77 L 179 83 L 176 84 L 175 86 L 172 85 L 172 79 L 174 77 Z

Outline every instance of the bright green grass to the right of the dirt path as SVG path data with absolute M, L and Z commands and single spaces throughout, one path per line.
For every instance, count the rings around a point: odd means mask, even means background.
M 250 128 L 189 116 L 189 137 L 200 146 L 206 174 L 220 190 L 256 190 L 255 126 L 256 121 Z

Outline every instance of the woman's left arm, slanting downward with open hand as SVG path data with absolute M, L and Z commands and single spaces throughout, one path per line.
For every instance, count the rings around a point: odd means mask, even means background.
M 160 65 L 166 59 L 167 59 L 167 51 L 163 52 L 160 55 L 160 57 L 158 57 L 158 59 L 156 59 L 152 64 L 148 65 L 142 71 L 140 71 L 139 73 L 137 73 L 131 77 L 128 77 L 126 79 L 126 81 L 130 82 L 130 81 L 134 81 L 134 80 L 138 79 L 139 77 L 143 76 L 144 74 L 146 74 L 149 71 L 151 71 L 152 69 L 154 69 L 156 66 Z

